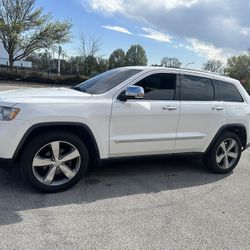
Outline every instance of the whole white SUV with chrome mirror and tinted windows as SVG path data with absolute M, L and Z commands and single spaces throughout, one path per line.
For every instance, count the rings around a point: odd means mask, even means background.
M 200 153 L 228 173 L 250 143 L 250 98 L 231 78 L 185 69 L 125 67 L 73 88 L 0 92 L 0 158 L 26 179 L 64 190 L 99 160 Z

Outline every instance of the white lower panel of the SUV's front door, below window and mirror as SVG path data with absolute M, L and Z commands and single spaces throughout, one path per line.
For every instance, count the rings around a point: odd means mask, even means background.
M 173 153 L 179 113 L 179 101 L 115 100 L 110 122 L 110 156 Z

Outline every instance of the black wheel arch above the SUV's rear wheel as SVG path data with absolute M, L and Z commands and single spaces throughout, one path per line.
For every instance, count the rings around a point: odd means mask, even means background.
M 218 130 L 218 132 L 214 136 L 213 140 L 210 142 L 209 146 L 207 147 L 206 153 L 211 149 L 211 147 L 214 144 L 214 142 L 216 141 L 216 139 L 221 134 L 223 134 L 225 132 L 233 132 L 236 135 L 238 135 L 240 140 L 241 140 L 243 150 L 246 148 L 246 146 L 247 146 L 247 130 L 246 130 L 246 127 L 243 124 L 235 123 L 235 124 L 224 125 Z

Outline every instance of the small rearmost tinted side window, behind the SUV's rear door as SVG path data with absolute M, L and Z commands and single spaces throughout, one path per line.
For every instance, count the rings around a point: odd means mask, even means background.
M 218 91 L 219 101 L 244 102 L 238 89 L 231 83 L 214 80 L 214 86 Z

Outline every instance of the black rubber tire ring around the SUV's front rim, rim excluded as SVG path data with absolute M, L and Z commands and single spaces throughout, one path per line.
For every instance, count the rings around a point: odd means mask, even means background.
M 44 145 L 52 141 L 69 142 L 70 144 L 72 144 L 74 147 L 78 149 L 81 155 L 80 169 L 75 175 L 75 177 L 69 182 L 60 186 L 48 186 L 48 185 L 41 183 L 34 176 L 34 173 L 32 170 L 32 162 L 33 162 L 33 158 L 35 154 Z M 40 191 L 45 191 L 45 192 L 60 192 L 60 191 L 64 191 L 70 188 L 71 186 L 76 184 L 76 182 L 86 173 L 88 169 L 88 165 L 89 165 L 89 154 L 88 154 L 88 150 L 84 142 L 75 134 L 69 133 L 66 131 L 60 131 L 60 132 L 53 131 L 53 132 L 44 133 L 35 137 L 26 145 L 24 152 L 22 154 L 22 158 L 21 158 L 21 170 L 22 170 L 22 174 L 25 180 L 28 181 L 36 189 L 39 189 Z

